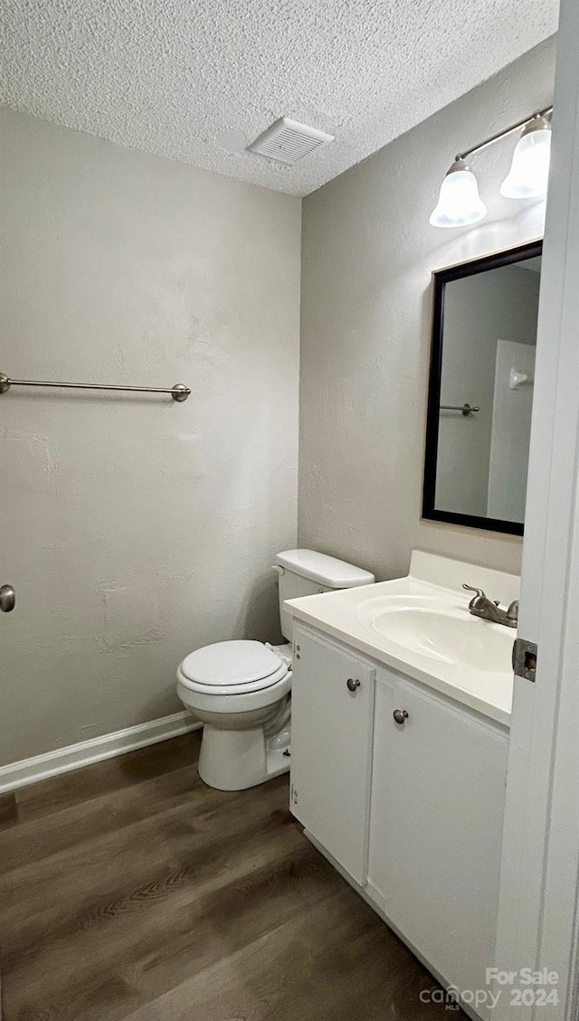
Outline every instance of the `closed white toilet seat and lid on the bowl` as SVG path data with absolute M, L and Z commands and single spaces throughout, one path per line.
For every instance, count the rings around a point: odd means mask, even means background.
M 209 696 L 241 695 L 270 688 L 288 672 L 287 664 L 262 642 L 233 640 L 190 652 L 179 668 L 179 680 Z

